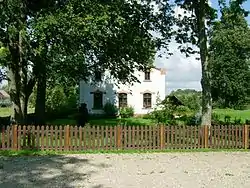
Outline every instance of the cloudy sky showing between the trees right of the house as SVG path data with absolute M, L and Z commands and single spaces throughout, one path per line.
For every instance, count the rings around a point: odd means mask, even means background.
M 218 0 L 211 0 L 211 5 L 218 8 Z M 243 7 L 250 10 L 250 1 L 244 3 Z M 250 17 L 247 18 L 250 24 Z M 196 89 L 201 90 L 201 65 L 194 56 L 186 58 L 177 49 L 176 43 L 171 43 L 170 49 L 173 55 L 168 59 L 156 58 L 157 67 L 166 68 L 166 94 L 177 89 Z M 197 55 L 196 55 L 197 56 Z

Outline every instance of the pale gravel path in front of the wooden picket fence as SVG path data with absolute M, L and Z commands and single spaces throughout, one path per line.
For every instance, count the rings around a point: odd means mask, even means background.
M 250 153 L 0 157 L 0 188 L 249 188 Z

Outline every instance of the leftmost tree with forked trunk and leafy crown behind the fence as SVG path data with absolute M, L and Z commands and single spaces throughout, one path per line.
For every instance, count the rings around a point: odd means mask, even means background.
M 27 120 L 29 96 L 36 83 L 41 60 L 35 46 L 40 41 L 33 40 L 31 23 L 46 10 L 60 7 L 62 1 L 53 0 L 2 0 L 0 1 L 0 42 L 6 49 L 3 65 L 7 69 L 10 96 L 14 103 L 14 116 L 18 123 Z

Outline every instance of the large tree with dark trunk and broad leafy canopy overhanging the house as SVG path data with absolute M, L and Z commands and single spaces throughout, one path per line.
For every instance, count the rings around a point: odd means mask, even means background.
M 159 12 L 142 2 L 72 0 L 63 11 L 38 22 L 38 34 L 56 36 L 50 36 L 53 43 L 49 44 L 53 62 L 40 69 L 46 69 L 47 80 L 40 72 L 43 87 L 38 87 L 36 109 L 44 107 L 46 81 L 50 86 L 74 85 L 104 70 L 123 83 L 138 81 L 134 70 L 152 66 L 156 47 L 167 47 L 172 25 L 167 1 L 158 3 Z M 168 37 L 153 38 L 152 31 L 165 32 Z

